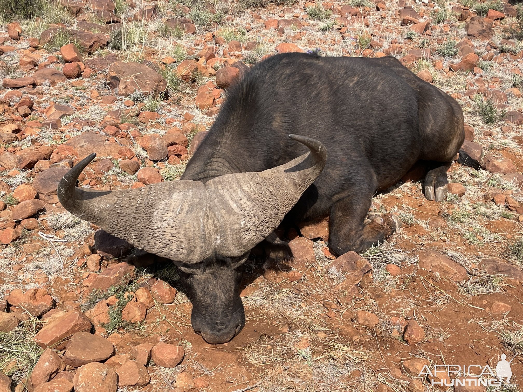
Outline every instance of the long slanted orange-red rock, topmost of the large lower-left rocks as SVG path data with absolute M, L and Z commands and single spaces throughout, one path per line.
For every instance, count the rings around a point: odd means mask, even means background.
M 76 332 L 85 332 L 90 329 L 91 323 L 88 318 L 82 312 L 72 310 L 44 325 L 35 336 L 35 341 L 44 349 L 48 347 L 63 349 L 67 340 Z

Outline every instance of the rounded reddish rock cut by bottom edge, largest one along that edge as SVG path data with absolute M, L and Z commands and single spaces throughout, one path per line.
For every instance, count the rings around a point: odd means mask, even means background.
M 75 392 L 116 392 L 117 374 L 109 366 L 92 362 L 80 367 L 74 375 Z

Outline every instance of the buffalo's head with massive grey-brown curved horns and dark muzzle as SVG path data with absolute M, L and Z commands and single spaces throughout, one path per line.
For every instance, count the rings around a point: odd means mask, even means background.
M 91 154 L 63 177 L 58 198 L 79 218 L 139 249 L 173 260 L 192 299 L 192 327 L 209 343 L 224 343 L 245 322 L 238 295 L 242 264 L 325 165 L 323 144 L 309 137 L 289 137 L 310 152 L 260 172 L 127 190 L 75 187 L 82 170 L 96 156 Z

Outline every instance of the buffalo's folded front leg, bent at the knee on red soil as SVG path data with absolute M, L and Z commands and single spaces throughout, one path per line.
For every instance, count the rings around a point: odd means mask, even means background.
M 364 223 L 373 192 L 346 197 L 331 207 L 329 217 L 329 245 L 336 255 L 350 250 L 363 252 L 382 243 L 394 233 L 401 221 L 392 214 L 373 215 Z

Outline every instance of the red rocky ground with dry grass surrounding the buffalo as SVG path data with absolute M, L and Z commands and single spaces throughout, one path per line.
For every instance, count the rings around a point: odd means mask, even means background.
M 446 390 L 418 377 L 423 365 L 494 369 L 502 353 L 515 357 L 511 383 L 488 391 L 520 390 L 521 6 L 0 0 L 0 11 L 0 391 Z M 178 179 L 227 88 L 289 51 L 396 56 L 460 102 L 463 148 L 482 167 L 454 163 L 442 203 L 424 199 L 419 168 L 377 195 L 372 211 L 403 228 L 361 256 L 335 259 L 325 221 L 280 233 L 294 263 L 251 265 L 244 330 L 209 345 L 176 268 L 122 262 L 129 247 L 65 212 L 56 185 L 92 152 L 83 187 Z

